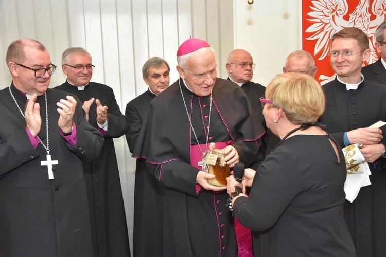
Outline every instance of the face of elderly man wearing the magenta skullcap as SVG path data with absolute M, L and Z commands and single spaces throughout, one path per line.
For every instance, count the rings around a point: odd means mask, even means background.
M 209 47 L 195 51 L 186 60 L 184 67 L 177 66 L 181 78 L 198 96 L 212 93 L 217 77 L 215 54 Z

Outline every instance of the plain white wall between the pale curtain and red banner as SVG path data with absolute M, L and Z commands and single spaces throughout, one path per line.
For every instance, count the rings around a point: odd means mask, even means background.
M 235 48 L 256 63 L 252 81 L 267 86 L 282 73 L 288 54 L 300 49 L 300 0 L 234 0 Z

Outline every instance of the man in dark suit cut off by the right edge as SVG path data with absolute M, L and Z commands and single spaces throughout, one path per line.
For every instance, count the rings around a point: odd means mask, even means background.
M 386 22 L 382 22 L 375 31 L 375 47 L 381 57 L 375 63 L 362 68 L 366 80 L 386 85 Z

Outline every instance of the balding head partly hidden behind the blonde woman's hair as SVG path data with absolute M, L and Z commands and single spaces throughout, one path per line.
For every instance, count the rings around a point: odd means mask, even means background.
M 283 67 L 283 73 L 299 72 L 315 77 L 318 67 L 315 67 L 315 62 L 311 54 L 304 50 L 296 50 L 289 54 L 286 64 Z

